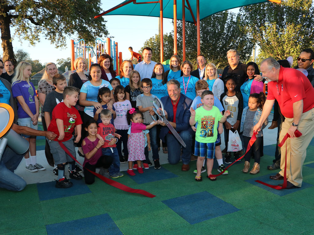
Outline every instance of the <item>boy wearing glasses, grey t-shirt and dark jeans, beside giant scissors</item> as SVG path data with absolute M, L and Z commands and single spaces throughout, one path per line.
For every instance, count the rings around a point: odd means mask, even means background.
M 141 81 L 141 88 L 143 90 L 143 94 L 137 96 L 136 107 L 144 115 L 144 124 L 149 125 L 151 122 L 153 122 L 153 117 L 156 120 L 156 115 L 153 111 L 154 108 L 153 102 L 155 98 L 157 98 L 157 96 L 150 94 L 150 90 L 152 89 L 152 80 L 150 80 L 149 78 L 144 78 Z M 157 102 L 157 105 L 159 106 L 159 102 Z M 160 169 L 156 126 L 149 129 L 149 137 L 153 152 L 153 160 L 155 165 L 154 168 Z M 150 161 L 147 157 L 147 159 L 143 161 L 144 169 L 149 168 L 149 163 Z

